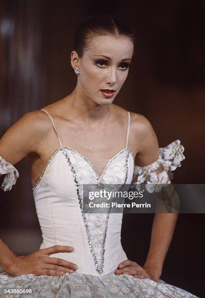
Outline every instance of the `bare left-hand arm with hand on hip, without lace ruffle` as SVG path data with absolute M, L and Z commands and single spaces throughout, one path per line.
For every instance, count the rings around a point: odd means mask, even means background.
M 15 165 L 29 153 L 39 154 L 41 141 L 51 130 L 51 124 L 43 112 L 25 114 L 0 139 L 0 156 L 3 162 L 2 173 L 8 172 L 9 166 Z M 10 165 L 6 165 L 5 162 Z M 5 171 L 6 168 L 6 171 Z M 9 188 L 10 189 L 10 188 Z M 50 258 L 49 255 L 58 252 L 71 252 L 70 246 L 54 245 L 27 256 L 16 256 L 10 248 L 0 239 L 0 266 L 12 276 L 23 274 L 35 275 L 62 275 L 72 273 L 77 268 L 75 264 L 59 259 Z

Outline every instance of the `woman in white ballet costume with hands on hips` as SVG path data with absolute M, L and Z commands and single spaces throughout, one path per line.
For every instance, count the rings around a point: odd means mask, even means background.
M 118 19 L 84 19 L 71 53 L 74 91 L 25 114 L 1 138 L 1 188 L 16 183 L 13 165 L 28 155 L 43 237 L 38 251 L 20 257 L 0 241 L 1 287 L 34 297 L 196 297 L 159 279 L 176 214 L 155 215 L 141 267 L 121 247 L 122 214 L 83 212 L 83 184 L 159 183 L 160 175 L 170 183 L 171 170 L 184 159 L 180 141 L 159 150 L 150 122 L 113 104 L 133 51 L 134 35 Z

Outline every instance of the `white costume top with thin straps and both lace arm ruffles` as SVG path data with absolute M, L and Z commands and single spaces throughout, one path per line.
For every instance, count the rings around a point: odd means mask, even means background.
M 78 151 L 62 145 L 51 115 L 53 129 L 60 148 L 54 152 L 34 186 L 34 202 L 43 242 L 40 248 L 69 245 L 71 253 L 50 255 L 78 265 L 77 272 L 94 276 L 107 275 L 127 259 L 121 246 L 122 213 L 85 213 L 83 185 L 125 185 L 146 183 L 149 192 L 158 191 L 160 185 L 171 183 L 171 171 L 185 159 L 184 147 L 176 140 L 159 148 L 158 159 L 147 166 L 134 167 L 134 158 L 128 148 L 130 112 L 125 148 L 106 164 L 99 176 L 92 163 Z M 15 185 L 17 169 L 0 156 L 0 174 L 6 174 L 1 188 L 6 191 Z M 134 174 L 134 175 L 133 175 Z M 150 187 L 151 186 L 151 187 Z

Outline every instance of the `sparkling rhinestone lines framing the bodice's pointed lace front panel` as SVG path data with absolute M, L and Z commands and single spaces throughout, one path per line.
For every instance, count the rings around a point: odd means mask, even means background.
M 62 148 L 62 151 L 63 151 L 63 154 L 64 154 L 64 156 L 66 157 L 66 159 L 68 161 L 68 166 L 70 167 L 70 170 L 72 171 L 72 174 L 73 174 L 73 179 L 74 179 L 74 182 L 75 182 L 75 185 L 76 185 L 76 190 L 77 190 L 78 201 L 79 201 L 79 205 L 80 205 L 82 217 L 83 217 L 83 220 L 84 220 L 84 223 L 85 223 L 85 230 L 86 230 L 86 233 L 87 233 L 87 238 L 88 238 L 88 244 L 89 244 L 89 247 L 90 247 L 90 251 L 91 251 L 91 254 L 93 256 L 93 260 L 94 260 L 94 263 L 95 263 L 96 271 L 99 274 L 102 274 L 103 273 L 103 269 L 102 268 L 104 267 L 104 264 L 103 264 L 104 263 L 104 252 L 105 252 L 105 250 L 104 250 L 104 244 L 105 244 L 105 239 L 106 239 L 106 235 L 107 235 L 108 219 L 109 219 L 111 207 L 109 208 L 109 211 L 108 211 L 108 214 L 107 214 L 107 217 L 106 217 L 106 221 L 105 221 L 104 235 L 103 235 L 103 238 L 102 238 L 101 260 L 100 260 L 100 265 L 99 265 L 98 264 L 97 257 L 96 257 L 96 254 L 95 254 L 95 251 L 94 251 L 94 248 L 93 248 L 93 245 L 92 245 L 91 235 L 90 235 L 88 223 L 86 222 L 85 212 L 83 211 L 82 197 L 80 195 L 80 191 L 79 191 L 79 187 L 78 187 L 79 186 L 79 182 L 78 182 L 78 180 L 76 178 L 76 172 L 75 172 L 74 167 L 72 166 L 72 164 L 70 162 L 70 158 L 68 156 L 68 152 L 66 151 L 66 149 L 70 149 L 70 148 L 63 147 Z M 125 148 L 125 149 L 127 149 L 127 148 Z M 115 156 L 113 156 L 113 158 L 111 160 L 115 159 L 125 149 L 122 149 L 119 153 L 117 153 Z M 72 149 L 72 151 L 73 150 L 74 149 Z M 125 180 L 124 180 L 124 183 L 123 183 L 122 186 L 124 186 L 125 183 L 126 183 L 126 181 L 127 181 L 129 152 L 130 152 L 130 149 L 127 149 L 127 156 L 126 156 L 126 166 L 127 167 L 126 167 L 126 173 L 125 173 Z M 79 155 L 81 155 L 79 152 L 76 152 L 76 153 L 78 153 Z M 82 156 L 82 157 L 85 158 L 84 156 Z M 89 163 L 89 161 L 86 158 L 85 158 L 85 160 Z M 104 171 L 102 172 L 102 174 L 105 173 L 105 170 L 109 166 L 111 160 L 108 162 L 107 166 L 104 168 Z M 91 164 L 91 166 L 92 166 L 92 164 Z M 98 174 L 97 174 L 97 177 L 99 177 Z

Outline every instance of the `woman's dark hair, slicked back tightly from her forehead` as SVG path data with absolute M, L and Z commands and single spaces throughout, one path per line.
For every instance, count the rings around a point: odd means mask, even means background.
M 135 34 L 133 30 L 110 14 L 98 13 L 82 19 L 75 31 L 74 50 L 78 53 L 79 57 L 83 56 L 88 39 L 93 34 L 110 34 L 116 37 L 120 35 L 127 36 L 130 37 L 135 44 Z

